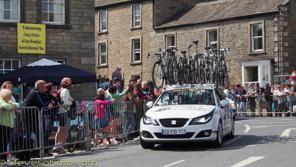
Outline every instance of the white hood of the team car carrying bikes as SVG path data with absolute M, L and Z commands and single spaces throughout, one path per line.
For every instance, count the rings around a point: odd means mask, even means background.
M 154 106 L 146 112 L 146 116 L 161 118 L 195 118 L 210 113 L 214 105 L 166 105 Z

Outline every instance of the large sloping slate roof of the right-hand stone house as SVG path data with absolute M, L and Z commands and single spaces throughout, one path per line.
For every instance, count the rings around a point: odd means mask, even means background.
M 181 9 L 156 28 L 198 24 L 215 20 L 277 12 L 287 0 L 219 0 Z

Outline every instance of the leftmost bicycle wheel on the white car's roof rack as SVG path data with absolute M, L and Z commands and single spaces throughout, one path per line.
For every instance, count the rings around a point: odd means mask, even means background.
M 155 62 L 152 69 L 152 80 L 156 89 L 160 90 L 164 83 L 164 76 L 160 62 Z

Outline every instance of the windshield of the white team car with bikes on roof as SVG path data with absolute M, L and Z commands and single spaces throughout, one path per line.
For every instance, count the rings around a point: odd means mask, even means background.
M 162 93 L 156 105 L 216 105 L 212 89 L 179 89 Z

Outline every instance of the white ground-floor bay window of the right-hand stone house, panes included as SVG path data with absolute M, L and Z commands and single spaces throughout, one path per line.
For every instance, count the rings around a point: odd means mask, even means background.
M 241 63 L 243 86 L 247 92 L 249 90 L 249 83 L 255 85 L 255 82 L 259 82 L 261 87 L 263 87 L 265 83 L 271 83 L 270 64 L 270 60 L 253 60 Z

